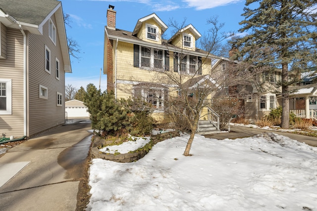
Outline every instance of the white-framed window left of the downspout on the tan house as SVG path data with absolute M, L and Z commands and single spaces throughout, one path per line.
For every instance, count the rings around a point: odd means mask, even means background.
M 12 114 L 12 80 L 0 79 L 0 115 Z

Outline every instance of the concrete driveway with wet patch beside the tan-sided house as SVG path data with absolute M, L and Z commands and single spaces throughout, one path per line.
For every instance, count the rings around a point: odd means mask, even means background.
M 91 134 L 89 120 L 75 120 L 8 150 L 0 157 L 0 210 L 74 211 Z

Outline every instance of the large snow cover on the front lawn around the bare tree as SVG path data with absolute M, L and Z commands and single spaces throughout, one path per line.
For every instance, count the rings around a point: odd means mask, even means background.
M 317 148 L 272 132 L 196 135 L 185 157 L 188 138 L 134 163 L 93 159 L 87 211 L 317 211 Z

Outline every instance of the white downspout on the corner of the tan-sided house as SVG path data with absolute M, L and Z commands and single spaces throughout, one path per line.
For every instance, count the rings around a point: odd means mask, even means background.
M 23 35 L 23 134 L 27 136 L 26 34 L 24 33 L 21 24 L 19 24 L 19 29 Z

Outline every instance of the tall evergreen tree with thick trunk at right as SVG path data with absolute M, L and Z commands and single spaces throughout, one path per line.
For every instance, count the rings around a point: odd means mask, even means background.
M 306 68 L 317 60 L 316 0 L 246 0 L 245 20 L 239 32 L 249 35 L 236 42 L 240 56 L 252 60 L 252 50 L 271 49 L 257 65 L 270 65 L 282 70 L 281 127 L 289 128 L 289 68 Z M 269 55 L 269 56 L 267 56 Z

